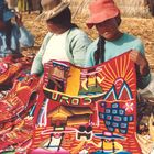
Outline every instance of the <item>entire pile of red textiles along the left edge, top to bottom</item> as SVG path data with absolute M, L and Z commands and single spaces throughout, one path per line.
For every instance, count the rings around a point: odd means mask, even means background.
M 33 57 L 0 58 L 0 153 L 22 153 L 33 135 L 40 78 L 30 76 Z

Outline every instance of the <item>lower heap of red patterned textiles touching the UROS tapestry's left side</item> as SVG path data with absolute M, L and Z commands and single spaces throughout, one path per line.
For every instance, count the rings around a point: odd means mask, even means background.
M 14 81 L 0 100 L 0 153 L 16 150 L 22 153 L 31 145 L 38 80 L 38 77 L 24 77 Z

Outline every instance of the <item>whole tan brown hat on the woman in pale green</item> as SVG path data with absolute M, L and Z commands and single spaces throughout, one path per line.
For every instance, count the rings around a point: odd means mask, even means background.
M 70 4 L 68 1 L 62 0 L 42 0 L 43 13 L 41 13 L 36 20 L 50 20 L 58 15 Z

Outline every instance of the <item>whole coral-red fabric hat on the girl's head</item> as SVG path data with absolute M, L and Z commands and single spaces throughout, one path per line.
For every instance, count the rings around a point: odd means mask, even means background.
M 89 29 L 120 14 L 113 0 L 94 0 L 89 6 L 89 11 L 91 16 L 86 22 Z

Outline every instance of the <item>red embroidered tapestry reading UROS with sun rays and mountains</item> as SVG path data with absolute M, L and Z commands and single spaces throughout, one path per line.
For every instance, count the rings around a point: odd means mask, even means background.
M 129 53 L 89 68 L 48 62 L 34 127 L 31 154 L 141 154 Z

